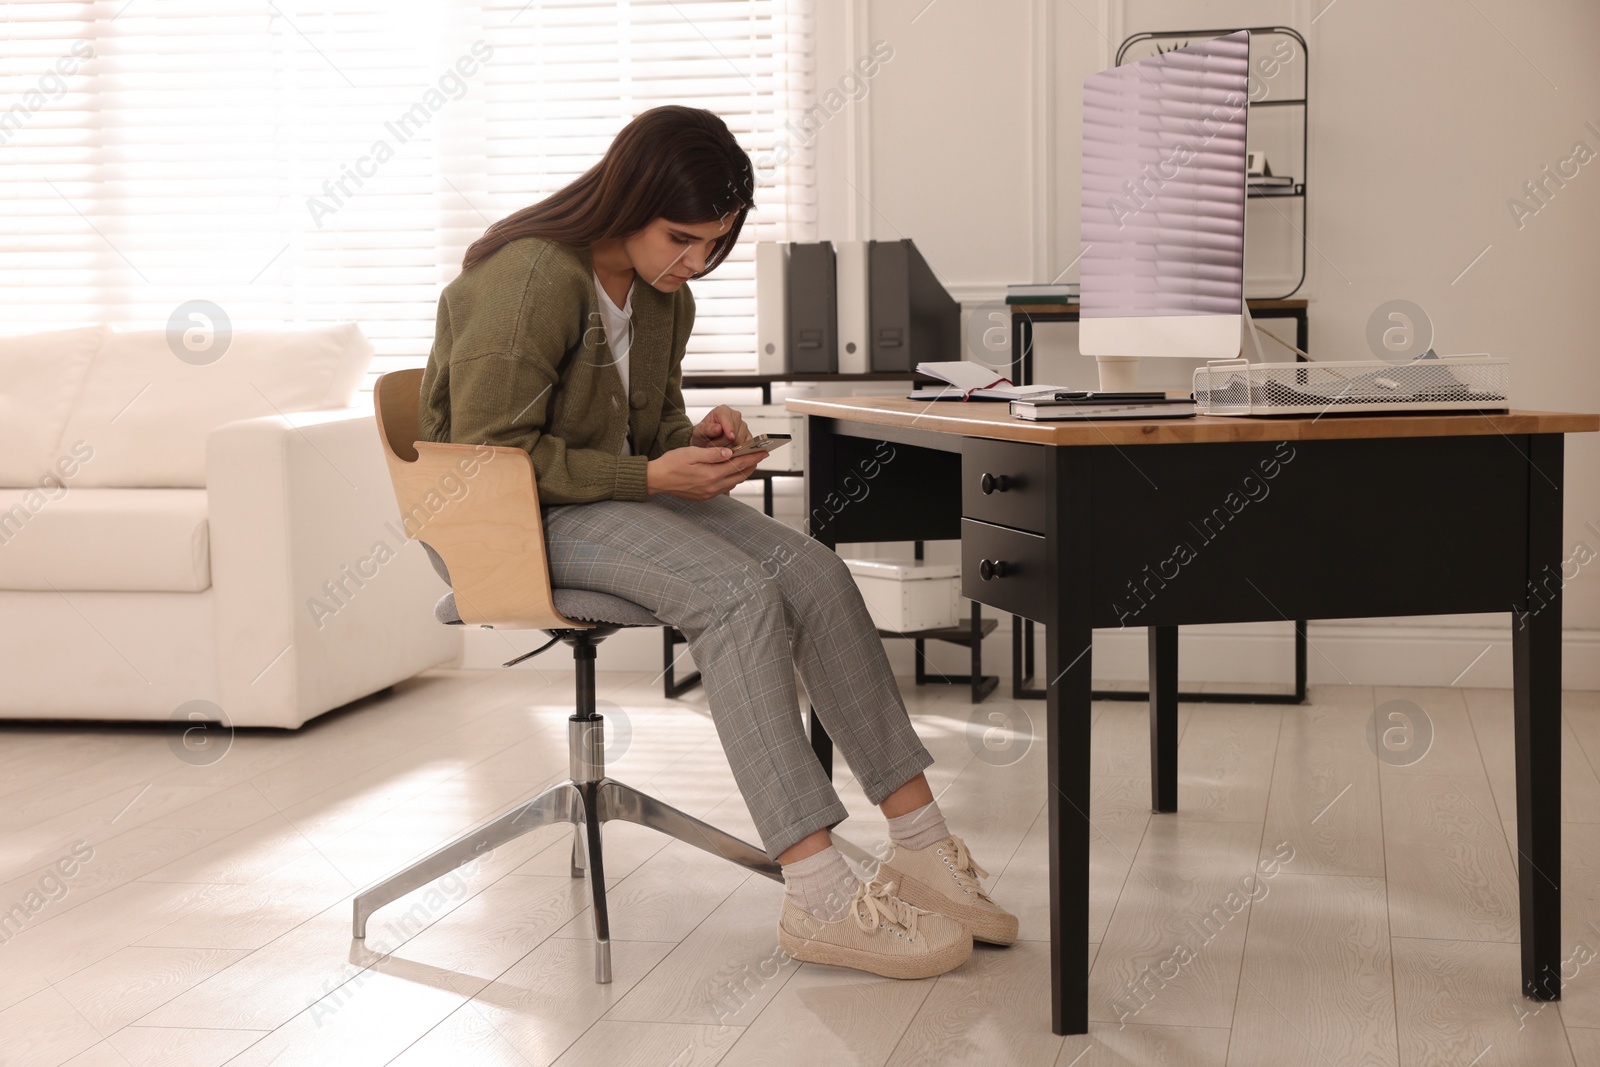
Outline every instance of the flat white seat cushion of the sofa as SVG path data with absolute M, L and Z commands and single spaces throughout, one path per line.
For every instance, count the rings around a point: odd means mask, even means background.
M 0 490 L 0 590 L 210 585 L 205 490 Z

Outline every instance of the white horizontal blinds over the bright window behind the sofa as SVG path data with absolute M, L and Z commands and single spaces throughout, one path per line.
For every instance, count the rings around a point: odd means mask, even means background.
M 490 222 L 675 102 L 758 171 L 739 245 L 691 283 L 685 365 L 754 370 L 754 243 L 814 237 L 811 3 L 13 0 L 5 331 L 163 326 L 197 299 L 235 330 L 355 320 L 370 389 L 426 360 Z

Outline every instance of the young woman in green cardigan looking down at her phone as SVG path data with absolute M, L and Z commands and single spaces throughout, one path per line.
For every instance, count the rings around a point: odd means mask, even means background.
M 765 453 L 726 405 L 683 413 L 686 282 L 754 205 L 750 160 L 707 110 L 656 107 L 605 158 L 488 227 L 438 301 L 421 432 L 533 456 L 550 579 L 632 600 L 683 630 L 734 781 L 784 872 L 779 944 L 893 977 L 958 966 L 1016 917 L 944 817 L 933 757 L 840 558 L 728 498 Z M 862 885 L 832 845 L 846 811 L 811 752 L 795 669 L 890 849 Z

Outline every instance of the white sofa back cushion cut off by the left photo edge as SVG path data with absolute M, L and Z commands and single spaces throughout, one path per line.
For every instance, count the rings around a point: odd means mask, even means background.
M 72 440 L 59 454 L 56 442 L 106 333 L 90 326 L 0 338 L 0 486 L 34 486 L 46 474 L 72 478 Z

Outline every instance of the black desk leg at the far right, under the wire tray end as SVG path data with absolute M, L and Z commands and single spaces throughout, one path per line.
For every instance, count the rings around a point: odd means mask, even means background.
M 1562 435 L 1526 438 L 1528 593 L 1512 609 L 1522 992 L 1562 997 Z M 1554 480 L 1554 485 L 1552 485 Z

